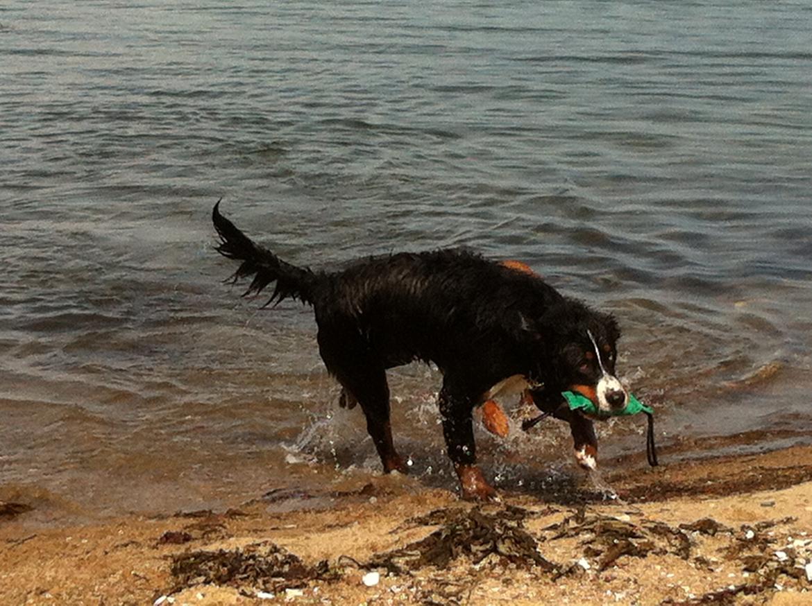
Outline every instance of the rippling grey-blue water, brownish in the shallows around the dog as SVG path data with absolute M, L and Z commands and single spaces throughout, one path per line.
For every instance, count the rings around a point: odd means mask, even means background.
M 810 6 L 266 4 L 0 7 L 0 499 L 171 512 L 378 473 L 309 309 L 222 285 L 221 196 L 297 264 L 466 245 L 614 312 L 663 460 L 809 441 Z M 439 380 L 391 373 L 395 440 L 453 488 Z M 643 425 L 603 452 L 642 464 Z M 504 488 L 569 469 L 553 421 L 478 444 Z

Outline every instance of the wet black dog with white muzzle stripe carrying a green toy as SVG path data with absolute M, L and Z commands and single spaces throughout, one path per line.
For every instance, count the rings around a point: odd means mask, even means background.
M 291 298 L 313 306 L 322 359 L 345 398 L 364 410 L 384 471 L 406 471 L 392 444 L 386 371 L 416 359 L 443 372 L 443 436 L 465 498 L 495 494 L 476 466 L 473 408 L 516 376 L 539 409 L 570 423 L 579 461 L 594 466 L 592 422 L 562 406 L 561 392 L 577 390 L 600 410 L 626 405 L 615 378 L 620 332 L 612 316 L 469 251 L 369 258 L 333 273 L 302 269 L 253 243 L 218 205 L 217 250 L 241 262 L 235 280 L 253 276 L 246 294 L 275 282 L 268 303 Z

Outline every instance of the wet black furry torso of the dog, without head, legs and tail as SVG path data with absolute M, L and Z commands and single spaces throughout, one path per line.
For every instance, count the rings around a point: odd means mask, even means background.
M 502 350 L 508 333 L 504 355 L 518 353 L 523 322 L 562 299 L 538 277 L 445 249 L 356 261 L 322 277 L 313 306 L 320 330 L 352 325 L 386 367 L 423 359 L 445 370 Z

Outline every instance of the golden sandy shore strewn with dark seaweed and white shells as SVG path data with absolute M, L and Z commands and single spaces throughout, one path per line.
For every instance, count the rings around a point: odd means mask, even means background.
M 616 501 L 395 475 L 60 527 L 6 503 L 0 603 L 812 604 L 812 447 L 661 458 L 612 466 Z

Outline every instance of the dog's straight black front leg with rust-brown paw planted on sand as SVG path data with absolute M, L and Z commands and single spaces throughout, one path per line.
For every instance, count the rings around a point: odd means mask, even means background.
M 440 415 L 443 417 L 443 436 L 448 457 L 460 479 L 460 493 L 468 501 L 490 501 L 496 491 L 488 484 L 477 467 L 477 450 L 473 441 L 473 402 L 460 398 L 443 386 L 439 394 Z

